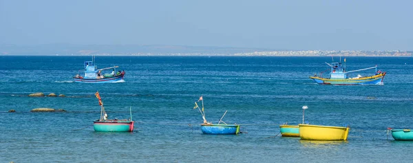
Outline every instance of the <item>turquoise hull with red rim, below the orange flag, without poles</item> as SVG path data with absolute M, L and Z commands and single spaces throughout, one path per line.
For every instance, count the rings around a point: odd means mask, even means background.
M 131 132 L 134 131 L 134 121 L 104 120 L 94 121 L 93 128 L 96 132 Z

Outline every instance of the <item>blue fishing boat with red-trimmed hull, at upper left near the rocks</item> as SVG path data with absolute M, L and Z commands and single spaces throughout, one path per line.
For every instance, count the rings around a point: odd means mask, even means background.
M 125 76 L 125 71 L 116 72 L 118 66 L 106 67 L 103 69 L 98 69 L 95 65 L 94 56 L 92 56 L 92 61 L 85 61 L 85 75 L 81 76 L 80 71 L 76 74 L 74 82 L 76 83 L 118 83 L 123 82 L 123 76 Z M 111 70 L 112 73 L 103 74 L 105 70 Z

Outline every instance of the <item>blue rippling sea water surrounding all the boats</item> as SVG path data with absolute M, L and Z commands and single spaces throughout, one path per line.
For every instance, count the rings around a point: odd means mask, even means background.
M 384 85 L 317 85 L 308 76 L 330 57 L 96 56 L 125 83 L 74 83 L 89 56 L 0 56 L 0 162 L 410 162 L 413 142 L 387 127 L 413 129 L 413 57 L 347 57 L 347 70 L 378 65 Z M 339 60 L 339 58 L 335 58 Z M 366 76 L 374 70 L 355 73 Z M 109 118 L 132 133 L 96 133 L 100 92 Z M 66 97 L 28 97 L 28 94 Z M 240 135 L 204 135 L 207 120 L 241 124 Z M 346 142 L 282 138 L 278 124 L 350 125 Z M 64 113 L 31 113 L 39 107 Z M 10 109 L 15 113 L 8 113 Z

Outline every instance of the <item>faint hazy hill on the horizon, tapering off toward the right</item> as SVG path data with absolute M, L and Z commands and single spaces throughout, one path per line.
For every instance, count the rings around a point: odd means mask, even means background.
M 0 55 L 228 55 L 257 51 L 268 49 L 182 45 L 0 45 Z

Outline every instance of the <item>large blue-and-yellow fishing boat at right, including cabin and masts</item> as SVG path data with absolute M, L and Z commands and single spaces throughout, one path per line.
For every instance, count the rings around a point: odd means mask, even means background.
M 319 76 L 315 74 L 314 76 L 310 76 L 311 79 L 315 81 L 315 83 L 321 85 L 383 85 L 383 78 L 385 76 L 385 72 L 381 72 L 381 70 L 377 70 L 377 65 L 374 67 L 368 67 L 365 69 L 356 69 L 352 71 L 346 71 L 346 58 L 344 58 L 344 65 L 340 62 L 338 63 L 326 63 L 330 66 L 330 76 L 328 78 L 323 77 L 323 73 L 321 72 Z M 372 76 L 355 76 L 350 78 L 350 73 L 352 72 L 359 72 L 367 69 L 376 69 L 376 73 Z

